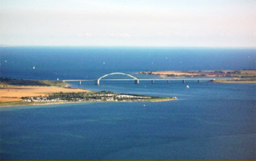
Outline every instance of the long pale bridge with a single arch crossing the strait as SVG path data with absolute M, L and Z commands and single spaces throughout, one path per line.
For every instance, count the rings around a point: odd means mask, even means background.
M 126 75 L 130 77 L 129 79 L 102 79 L 104 77 L 108 77 L 109 75 Z M 112 74 L 106 74 L 102 77 L 99 77 L 96 80 L 63 80 L 64 82 L 78 82 L 79 85 L 81 85 L 82 81 L 94 81 L 96 85 L 99 85 L 99 81 L 134 81 L 135 84 L 140 84 L 140 81 L 151 81 L 152 84 L 154 84 L 154 81 L 167 81 L 167 83 L 170 83 L 170 81 L 182 81 L 182 83 L 185 83 L 185 81 L 197 81 L 198 83 L 200 81 L 213 81 L 212 78 L 199 78 L 199 79 L 192 79 L 192 78 L 182 78 L 182 79 L 170 79 L 170 78 L 137 78 L 130 74 L 124 74 L 124 73 L 112 73 Z

